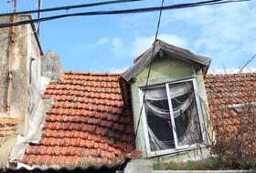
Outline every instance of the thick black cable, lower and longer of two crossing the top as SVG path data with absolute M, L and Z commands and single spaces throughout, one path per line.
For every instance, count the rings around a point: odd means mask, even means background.
M 92 11 L 92 12 L 82 12 L 82 13 L 74 13 L 74 14 L 66 14 L 66 15 L 52 15 L 48 17 L 43 17 L 40 19 L 32 19 L 25 20 L 16 23 L 6 23 L 1 24 L 0 28 L 10 27 L 13 25 L 26 25 L 31 23 L 44 22 L 49 20 L 54 20 L 58 18 L 64 18 L 69 16 L 83 16 L 83 15 L 121 15 L 121 14 L 136 14 L 136 13 L 148 13 L 155 12 L 159 10 L 174 10 L 181 8 L 190 8 L 204 5 L 219 5 L 219 4 L 227 4 L 227 3 L 237 3 L 251 0 L 211 0 L 211 1 L 202 1 L 197 3 L 188 3 L 188 4 L 177 4 L 177 5 L 167 5 L 167 6 L 157 6 L 157 7 L 147 7 L 147 8 L 133 8 L 133 9 L 125 9 L 125 10 L 113 10 L 113 11 Z

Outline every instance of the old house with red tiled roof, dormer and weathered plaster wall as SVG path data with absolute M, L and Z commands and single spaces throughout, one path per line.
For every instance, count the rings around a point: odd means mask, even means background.
M 8 30 L 0 32 L 8 37 Z M 219 107 L 248 102 L 244 87 L 255 96 L 254 73 L 208 76 L 210 58 L 161 40 L 123 74 L 114 74 L 61 72 L 58 56 L 43 55 L 34 25 L 17 26 L 16 35 L 22 38 L 14 46 L 9 115 L 10 47 L 7 41 L 1 44 L 4 162 L 39 168 L 113 166 L 134 150 L 140 151 L 136 158 L 149 160 L 208 158 L 218 124 L 211 119 Z M 227 80 L 235 90 L 224 85 Z M 225 99 L 229 93 L 237 94 L 232 103 Z M 221 123 L 233 127 L 237 121 L 228 116 Z

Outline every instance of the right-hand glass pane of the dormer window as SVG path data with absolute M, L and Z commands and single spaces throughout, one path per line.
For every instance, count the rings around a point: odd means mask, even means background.
M 202 142 L 193 82 L 170 84 L 169 89 L 175 118 L 177 145 L 185 146 Z

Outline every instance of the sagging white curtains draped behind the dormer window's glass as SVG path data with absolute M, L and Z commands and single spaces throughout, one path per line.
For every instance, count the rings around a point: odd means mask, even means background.
M 170 96 L 173 100 L 179 103 L 179 107 L 173 108 L 173 114 L 175 119 L 182 116 L 184 112 L 187 111 L 187 108 L 191 106 L 191 116 L 189 119 L 189 124 L 186 127 L 186 132 L 184 132 L 184 136 L 178 137 L 178 144 L 189 144 L 191 142 L 191 132 L 197 132 L 197 105 L 196 103 L 192 103 L 195 101 L 195 92 L 193 91 L 192 83 L 189 82 L 179 83 L 174 86 L 170 86 Z M 176 97 L 180 97 L 189 93 L 189 97 L 183 102 L 176 99 Z M 146 112 L 150 112 L 152 116 L 165 118 L 166 120 L 170 119 L 170 111 L 169 109 L 155 107 L 152 102 L 153 101 L 167 101 L 166 89 L 165 86 L 158 88 L 151 88 L 146 91 L 145 95 L 145 108 Z M 192 104 L 192 105 L 191 105 Z M 156 136 L 151 127 L 148 128 L 148 133 L 151 142 L 154 144 L 157 150 L 159 149 L 167 149 L 170 148 L 170 145 L 174 144 L 174 141 L 161 141 Z M 178 127 L 176 127 L 178 128 Z

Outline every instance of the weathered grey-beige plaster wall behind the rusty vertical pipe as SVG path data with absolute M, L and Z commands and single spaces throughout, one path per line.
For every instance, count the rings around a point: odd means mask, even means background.
M 17 21 L 29 19 L 27 15 L 17 17 Z M 1 22 L 10 22 L 11 18 L 1 17 Z M 34 67 L 32 68 L 32 78 L 35 85 L 39 86 L 40 76 L 40 52 L 37 46 L 37 41 L 32 34 L 31 25 L 19 25 L 15 30 L 14 58 L 13 58 L 13 84 L 11 97 L 11 116 L 24 117 L 27 113 L 28 93 L 28 78 L 29 78 L 29 61 L 30 57 L 34 57 Z M 8 71 L 9 71 L 9 52 L 10 52 L 10 29 L 0 29 L 0 79 L 3 81 L 0 85 L 0 115 L 6 111 L 6 96 L 8 86 Z M 4 41 L 3 41 L 4 40 Z M 22 102 L 21 102 L 22 101 Z

